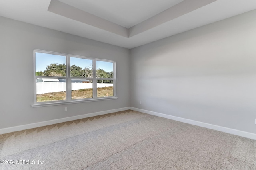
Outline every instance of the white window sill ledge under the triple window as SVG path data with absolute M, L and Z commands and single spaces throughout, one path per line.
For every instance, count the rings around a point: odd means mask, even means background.
M 44 106 L 55 106 L 55 105 L 62 105 L 62 104 L 72 104 L 72 103 L 84 103 L 84 102 L 94 102 L 94 101 L 101 101 L 101 100 L 113 100 L 117 99 L 117 97 L 110 97 L 110 98 L 98 98 L 98 99 L 88 99 L 88 100 L 74 100 L 74 101 L 65 101 L 65 102 L 52 102 L 52 103 L 38 103 L 32 104 L 32 107 L 44 107 Z

